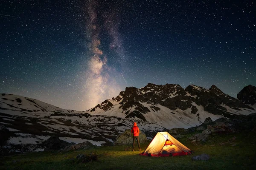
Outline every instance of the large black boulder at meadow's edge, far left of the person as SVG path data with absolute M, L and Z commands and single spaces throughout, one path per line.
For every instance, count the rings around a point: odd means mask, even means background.
M 42 145 L 43 145 L 43 147 L 45 147 L 44 150 L 59 150 L 62 147 L 66 147 L 66 146 L 70 145 L 70 143 L 63 141 L 56 136 L 51 136 Z

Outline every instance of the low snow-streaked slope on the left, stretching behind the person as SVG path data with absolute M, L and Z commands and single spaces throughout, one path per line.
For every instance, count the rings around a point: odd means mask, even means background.
M 42 151 L 50 136 L 69 143 L 111 145 L 117 135 L 131 129 L 134 121 L 61 109 L 36 99 L 0 93 L 0 155 Z M 154 123 L 136 122 L 146 134 L 165 130 Z

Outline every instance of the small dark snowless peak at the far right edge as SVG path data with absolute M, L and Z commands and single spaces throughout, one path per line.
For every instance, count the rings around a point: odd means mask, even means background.
M 256 104 L 256 87 L 253 85 L 245 86 L 238 94 L 237 98 L 247 105 Z

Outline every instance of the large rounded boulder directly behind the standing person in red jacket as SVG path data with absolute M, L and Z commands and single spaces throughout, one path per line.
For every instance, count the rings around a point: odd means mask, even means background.
M 146 135 L 144 133 L 142 133 L 141 131 L 140 131 L 139 139 L 140 139 L 140 144 L 143 144 L 147 141 Z M 127 144 L 132 144 L 132 142 L 133 142 L 133 136 L 132 136 L 131 130 L 127 129 L 127 130 L 125 130 L 124 133 L 121 133 L 116 137 L 114 144 L 127 145 Z M 137 142 L 135 142 L 135 144 L 136 143 Z

